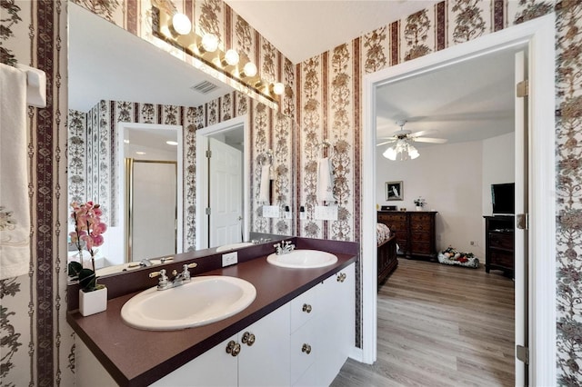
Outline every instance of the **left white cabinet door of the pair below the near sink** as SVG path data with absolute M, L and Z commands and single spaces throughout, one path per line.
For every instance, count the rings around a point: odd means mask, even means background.
M 226 339 L 216 347 L 204 352 L 191 362 L 187 362 L 175 372 L 167 374 L 152 386 L 161 387 L 232 387 L 238 379 L 237 358 L 226 353 L 228 342 L 235 341 L 236 335 Z

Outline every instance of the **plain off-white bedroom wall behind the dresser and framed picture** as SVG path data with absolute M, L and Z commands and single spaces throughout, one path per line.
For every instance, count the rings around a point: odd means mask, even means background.
M 472 252 L 485 262 L 485 222 L 490 215 L 491 184 L 515 181 L 515 134 L 482 142 L 444 144 L 418 149 L 420 157 L 391 162 L 376 151 L 376 200 L 414 211 L 413 200 L 426 199 L 437 214 L 437 249 L 448 245 Z M 404 200 L 386 201 L 385 183 L 403 181 Z M 471 245 L 473 241 L 476 244 Z

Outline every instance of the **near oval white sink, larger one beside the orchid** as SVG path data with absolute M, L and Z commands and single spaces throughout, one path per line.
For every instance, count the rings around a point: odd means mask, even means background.
M 189 283 L 135 294 L 121 309 L 123 321 L 137 329 L 172 331 L 216 323 L 253 303 L 252 283 L 235 277 L 192 277 Z

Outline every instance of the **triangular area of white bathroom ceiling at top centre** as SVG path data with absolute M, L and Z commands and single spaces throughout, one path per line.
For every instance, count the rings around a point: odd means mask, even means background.
M 225 0 L 294 64 L 438 1 Z

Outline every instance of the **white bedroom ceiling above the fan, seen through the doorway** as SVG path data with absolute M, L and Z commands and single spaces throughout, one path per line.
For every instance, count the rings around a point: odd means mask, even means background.
M 377 143 L 399 130 L 399 120 L 407 121 L 406 130 L 431 131 L 426 136 L 445 138 L 449 144 L 513 132 L 517 50 L 508 48 L 379 87 Z

